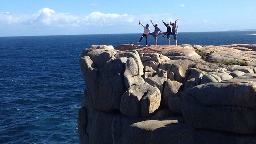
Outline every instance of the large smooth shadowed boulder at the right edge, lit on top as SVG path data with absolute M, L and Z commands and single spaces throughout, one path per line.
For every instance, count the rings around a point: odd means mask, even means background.
M 182 114 L 195 128 L 255 132 L 256 79 L 198 85 L 182 93 L 182 100 Z

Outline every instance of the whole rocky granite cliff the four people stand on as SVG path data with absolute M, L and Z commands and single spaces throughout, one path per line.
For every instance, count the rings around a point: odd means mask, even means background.
M 255 55 L 256 44 L 85 48 L 80 144 L 256 144 Z

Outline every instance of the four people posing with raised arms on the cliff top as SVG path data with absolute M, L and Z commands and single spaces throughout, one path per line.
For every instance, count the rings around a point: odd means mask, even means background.
M 178 26 L 176 25 L 177 20 L 175 20 L 175 23 L 172 23 L 172 21 L 170 21 L 170 24 L 166 24 L 163 20 L 162 22 L 164 23 L 164 25 L 167 28 L 166 32 L 162 32 L 162 30 L 158 27 L 158 24 L 154 24 L 152 22 L 152 20 L 150 20 L 150 22 L 152 23 L 152 25 L 154 26 L 155 30 L 154 32 L 150 33 L 150 28 L 149 25 L 147 24 L 146 26 L 144 26 L 140 21 L 139 24 L 141 26 L 144 27 L 144 33 L 142 34 L 142 36 L 140 37 L 140 40 L 138 41 L 138 43 L 140 43 L 140 41 L 145 38 L 146 39 L 146 46 L 148 46 L 148 36 L 153 36 L 157 45 L 157 36 L 160 36 L 161 34 L 164 34 L 162 37 L 166 37 L 168 39 L 168 44 L 170 45 L 170 35 L 173 35 L 173 39 L 175 41 L 175 45 L 177 46 L 177 34 L 178 34 Z M 172 26 L 172 28 L 170 27 L 170 25 Z

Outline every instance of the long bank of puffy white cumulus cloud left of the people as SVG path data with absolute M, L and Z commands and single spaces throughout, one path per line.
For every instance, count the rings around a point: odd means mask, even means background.
M 118 23 L 134 21 L 134 16 L 128 14 L 104 14 L 102 12 L 92 12 L 86 16 L 76 14 L 57 13 L 50 8 L 42 8 L 35 14 L 14 14 L 11 12 L 0 13 L 0 25 L 32 25 L 34 27 L 52 26 L 95 26 L 96 24 L 117 25 Z

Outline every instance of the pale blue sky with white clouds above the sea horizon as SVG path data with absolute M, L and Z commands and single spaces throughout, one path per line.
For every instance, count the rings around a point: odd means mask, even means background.
M 0 36 L 142 33 L 178 18 L 179 32 L 256 29 L 256 0 L 0 0 Z

